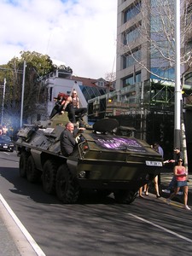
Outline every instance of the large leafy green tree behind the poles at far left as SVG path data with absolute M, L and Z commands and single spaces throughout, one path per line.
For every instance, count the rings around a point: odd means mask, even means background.
M 23 123 L 38 113 L 37 103 L 41 94 L 41 78 L 57 68 L 53 65 L 49 55 L 38 52 L 22 51 L 20 57 L 14 57 L 7 64 L 0 66 L 0 83 L 3 85 L 6 79 L 3 123 L 14 127 L 20 127 L 20 108 L 22 95 L 22 80 L 24 73 L 24 61 L 26 61 L 25 90 L 23 102 Z M 3 86 L 0 89 L 0 102 L 3 102 Z M 44 101 L 46 99 L 44 98 Z M 2 108 L 0 109 L 2 113 Z

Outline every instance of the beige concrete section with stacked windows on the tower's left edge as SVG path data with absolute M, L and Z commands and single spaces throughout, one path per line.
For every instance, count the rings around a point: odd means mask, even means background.
M 136 84 L 149 79 L 148 73 L 143 70 L 131 57 L 131 50 L 141 60 L 143 44 L 139 37 L 139 27 L 142 26 L 140 15 L 141 1 L 118 0 L 117 14 L 117 61 L 116 61 L 116 89 L 127 84 Z M 126 47 L 134 42 L 130 50 Z M 146 59 L 147 61 L 147 59 Z M 147 65 L 147 62 L 144 63 Z

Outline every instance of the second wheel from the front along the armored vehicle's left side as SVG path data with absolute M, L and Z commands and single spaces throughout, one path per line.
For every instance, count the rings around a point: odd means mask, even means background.
M 44 163 L 43 171 L 43 187 L 48 194 L 55 194 L 55 179 L 56 179 L 57 164 L 55 160 L 47 160 Z

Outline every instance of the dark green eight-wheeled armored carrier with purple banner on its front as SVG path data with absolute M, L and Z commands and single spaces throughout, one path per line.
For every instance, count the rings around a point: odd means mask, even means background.
M 144 141 L 121 135 L 116 119 L 96 121 L 79 134 L 73 154 L 62 155 L 60 137 L 66 123 L 64 114 L 46 126 L 24 125 L 15 143 L 20 177 L 31 183 L 41 177 L 44 191 L 56 193 L 63 203 L 78 201 L 82 189 L 94 189 L 100 196 L 113 193 L 115 201 L 130 204 L 138 189 L 160 172 L 160 154 Z

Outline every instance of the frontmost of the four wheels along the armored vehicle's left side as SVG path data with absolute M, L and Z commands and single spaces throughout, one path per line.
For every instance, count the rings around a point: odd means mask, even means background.
M 79 198 L 79 183 L 67 165 L 61 165 L 56 174 L 56 195 L 63 203 L 74 203 Z

